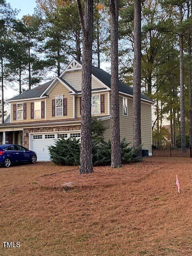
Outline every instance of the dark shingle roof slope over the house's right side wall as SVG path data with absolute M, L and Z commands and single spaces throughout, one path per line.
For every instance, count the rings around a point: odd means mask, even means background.
M 82 64 L 81 61 L 78 61 L 78 62 L 80 64 Z M 92 66 L 92 74 L 94 76 L 96 76 L 96 78 L 98 78 L 106 86 L 111 88 L 111 75 L 108 72 L 104 71 L 101 68 L 97 68 L 97 67 Z M 119 80 L 119 91 L 124 92 L 126 94 L 133 95 L 133 88 L 128 86 L 126 83 L 122 82 L 121 80 Z M 153 102 L 152 99 L 148 98 L 147 96 L 145 96 L 143 94 L 141 95 L 141 98 Z

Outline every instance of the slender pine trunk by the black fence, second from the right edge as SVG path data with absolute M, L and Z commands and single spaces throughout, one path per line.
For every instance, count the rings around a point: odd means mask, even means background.
M 180 7 L 180 22 L 182 22 L 182 6 Z M 183 78 L 183 34 L 179 34 L 179 61 L 180 61 L 180 119 L 181 119 L 181 147 L 186 147 L 185 131 L 185 102 L 184 102 L 184 78 Z

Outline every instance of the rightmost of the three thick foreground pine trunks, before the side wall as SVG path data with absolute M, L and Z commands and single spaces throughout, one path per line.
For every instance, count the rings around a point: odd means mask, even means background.
M 134 1 L 133 146 L 141 145 L 141 0 Z M 138 150 L 141 156 L 141 149 Z

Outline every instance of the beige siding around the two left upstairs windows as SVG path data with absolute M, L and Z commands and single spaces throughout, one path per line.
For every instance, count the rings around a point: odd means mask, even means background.
M 30 122 L 30 121 L 42 121 L 45 120 L 45 118 L 38 118 L 38 119 L 31 119 L 31 102 L 42 102 L 45 101 L 46 99 L 42 100 L 24 100 L 20 102 L 12 102 L 11 103 L 11 123 L 20 123 L 20 122 Z M 13 120 L 13 105 L 17 103 L 27 103 L 27 119 L 23 120 Z

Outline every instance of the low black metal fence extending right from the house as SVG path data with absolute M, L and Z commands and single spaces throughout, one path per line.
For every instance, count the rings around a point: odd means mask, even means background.
M 192 147 L 176 147 L 176 146 L 156 146 L 152 145 L 153 156 L 176 156 L 176 157 L 192 157 Z

